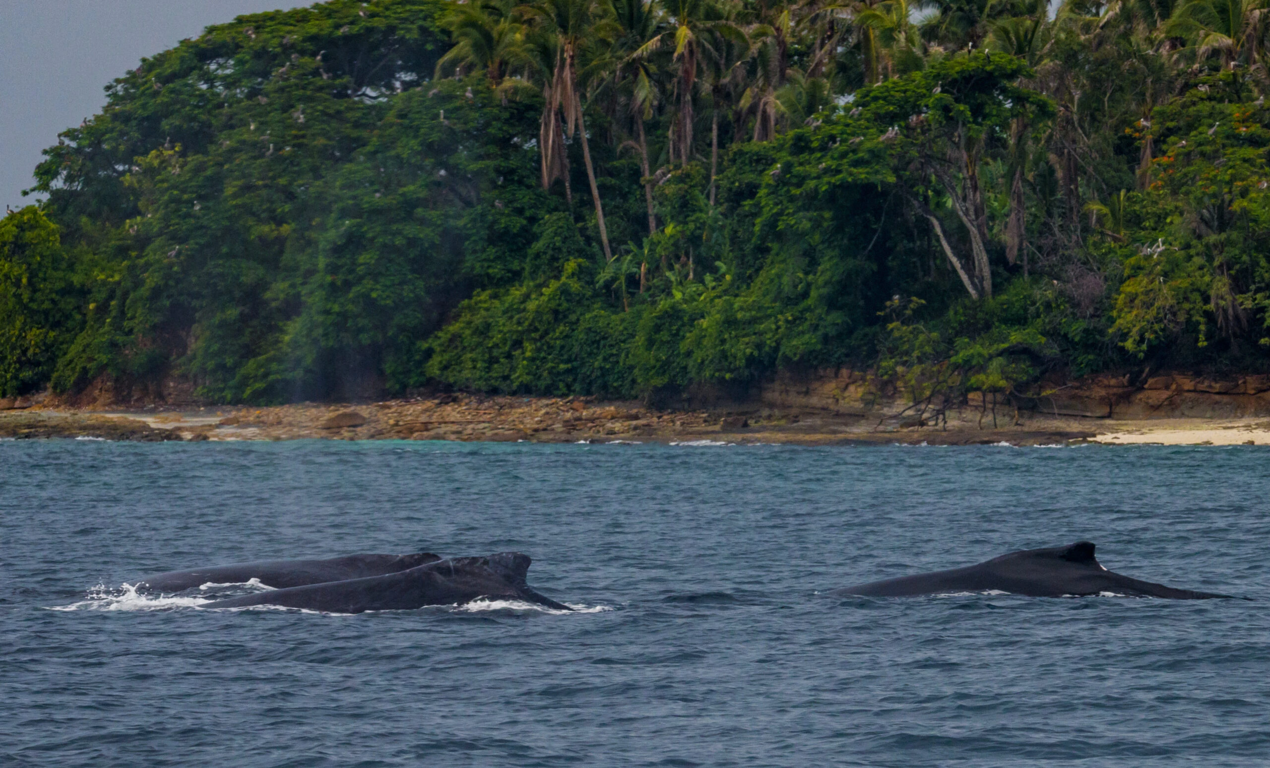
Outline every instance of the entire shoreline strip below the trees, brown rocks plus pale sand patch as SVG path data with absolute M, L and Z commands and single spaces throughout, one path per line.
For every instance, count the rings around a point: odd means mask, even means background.
M 866 400 L 853 392 L 859 382 L 824 394 L 798 391 L 784 382 L 765 400 L 716 404 L 715 407 L 652 407 L 639 401 L 594 397 L 525 397 L 446 394 L 431 397 L 362 404 L 296 404 L 272 407 L 144 405 L 132 407 L 70 407 L 39 397 L 0 401 L 0 439 L 84 438 L 108 440 L 292 440 L 392 439 L 462 442 L 711 442 L 834 444 L 1011 444 L 1073 443 L 1270 444 L 1270 418 L 1260 414 L 1270 391 L 1204 392 L 1171 380 L 1167 388 L 1152 381 L 1133 392 L 1110 392 L 1105 383 L 1071 387 L 1062 396 L 1085 401 L 1019 407 L 973 397 L 950 410 L 946 421 L 930 419 L 894 400 Z M 823 388 L 823 387 L 820 387 Z M 1195 394 L 1200 392 L 1200 394 Z M 832 394 L 832 397 L 829 396 Z M 1091 401 L 1123 404 L 1168 395 L 1190 402 L 1214 400 L 1170 416 L 1116 414 Z M 1057 394 L 1055 394 L 1057 395 Z M 1054 397 L 1053 395 L 1050 397 Z M 1236 399 L 1240 402 L 1236 404 Z M 1256 402 L 1242 402 L 1256 399 Z M 1227 407 L 1224 404 L 1238 405 Z M 1193 404 L 1194 406 L 1194 404 Z M 1196 413 L 1198 411 L 1198 413 Z M 1191 415 L 1191 414 L 1195 415 Z M 1220 418 L 1231 413 L 1234 418 Z M 1196 418 L 1198 416 L 1198 418 Z

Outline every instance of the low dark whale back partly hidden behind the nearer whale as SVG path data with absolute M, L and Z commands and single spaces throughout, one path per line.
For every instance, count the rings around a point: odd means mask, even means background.
M 182 592 L 203 584 L 245 584 L 258 579 L 265 586 L 284 589 L 324 581 L 345 581 L 382 576 L 441 560 L 432 552 L 414 555 L 349 555 L 330 560 L 265 560 L 237 565 L 196 567 L 147 576 L 137 583 L 138 592 Z

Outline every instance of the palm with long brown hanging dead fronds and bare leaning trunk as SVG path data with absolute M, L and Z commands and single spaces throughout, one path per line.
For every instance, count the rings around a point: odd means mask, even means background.
M 613 260 L 608 248 L 608 230 L 605 226 L 605 207 L 599 201 L 599 187 L 596 184 L 596 168 L 591 161 L 591 143 L 587 141 L 587 123 L 583 119 L 583 98 L 578 81 L 578 55 L 582 48 L 597 38 L 602 38 L 611 28 L 607 6 L 596 0 L 538 0 L 535 5 L 522 5 L 522 13 L 530 23 L 544 34 L 555 38 L 555 61 L 551 67 L 550 86 L 544 89 L 544 123 L 546 113 L 564 113 L 565 135 L 574 132 L 582 137 L 582 159 L 587 165 L 587 182 L 591 184 L 591 199 L 596 204 L 596 223 L 599 227 L 599 244 L 605 249 L 605 259 Z M 544 146 L 546 152 L 547 147 Z M 545 166 L 544 166 L 545 168 Z

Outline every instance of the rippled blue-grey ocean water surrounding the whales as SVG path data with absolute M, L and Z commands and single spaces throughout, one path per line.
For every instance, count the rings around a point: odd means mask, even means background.
M 1257 765 L 1260 447 L 0 442 L 0 765 Z M 1253 600 L 836 599 L 1087 538 Z M 206 611 L 273 557 L 530 553 L 583 608 Z

